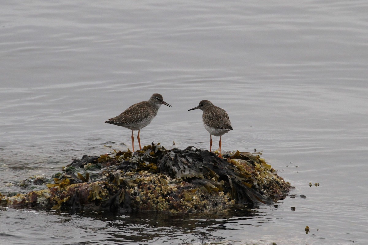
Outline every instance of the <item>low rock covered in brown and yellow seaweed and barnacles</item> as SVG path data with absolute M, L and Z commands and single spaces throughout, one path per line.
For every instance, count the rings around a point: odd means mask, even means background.
M 261 154 L 236 151 L 219 158 L 192 146 L 167 150 L 152 143 L 136 152 L 84 155 L 54 174 L 47 189 L 11 197 L 0 194 L 0 205 L 172 213 L 235 204 L 254 208 L 276 202 L 291 188 Z

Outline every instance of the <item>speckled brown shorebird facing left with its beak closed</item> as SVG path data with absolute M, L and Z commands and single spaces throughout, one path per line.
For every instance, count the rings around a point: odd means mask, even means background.
M 221 157 L 221 136 L 233 129 L 231 127 L 229 115 L 220 107 L 217 107 L 208 100 L 202 100 L 197 107 L 189 109 L 188 111 L 200 109 L 203 111 L 202 120 L 203 126 L 210 135 L 209 151 L 212 148 L 212 135 L 220 136 L 219 141 L 219 157 Z

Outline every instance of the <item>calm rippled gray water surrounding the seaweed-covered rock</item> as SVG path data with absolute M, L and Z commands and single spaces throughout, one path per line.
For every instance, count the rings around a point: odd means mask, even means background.
M 207 99 L 234 128 L 223 151 L 263 150 L 307 198 L 174 217 L 1 208 L 0 244 L 368 244 L 367 12 L 358 0 L 1 3 L 0 192 L 131 148 L 130 130 L 103 122 L 160 93 L 172 108 L 142 144 L 208 149 L 201 111 L 187 111 Z

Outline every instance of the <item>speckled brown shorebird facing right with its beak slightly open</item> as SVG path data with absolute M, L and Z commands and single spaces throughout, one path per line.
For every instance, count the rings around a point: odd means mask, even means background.
M 139 132 L 142 128 L 149 125 L 152 119 L 155 118 L 161 105 L 171 105 L 163 101 L 161 94 L 152 94 L 148 101 L 142 101 L 137 104 L 131 105 L 128 109 L 122 112 L 120 115 L 110 118 L 105 123 L 114 124 L 117 126 L 126 127 L 132 130 L 132 147 L 134 152 L 134 130 L 138 130 L 138 144 L 139 149 L 141 147 L 141 140 L 139 138 Z

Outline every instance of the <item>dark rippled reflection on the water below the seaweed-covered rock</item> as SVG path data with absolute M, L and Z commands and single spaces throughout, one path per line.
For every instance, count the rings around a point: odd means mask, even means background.
M 167 242 L 170 239 L 180 239 L 190 243 L 224 241 L 226 238 L 222 234 L 216 234 L 219 230 L 226 232 L 242 230 L 243 226 L 248 225 L 259 226 L 257 220 L 262 223 L 273 222 L 266 218 L 266 213 L 238 208 L 199 214 L 172 215 L 170 213 L 137 212 L 120 216 L 103 215 L 101 213 L 85 215 L 98 220 L 100 223 L 102 222 L 103 225 L 93 232 L 107 236 L 106 241 L 113 244 L 152 242 L 157 239 Z M 69 219 L 63 219 L 60 222 L 69 221 Z M 85 228 L 90 229 L 88 226 Z M 186 234 L 190 234 L 190 236 L 186 238 Z

